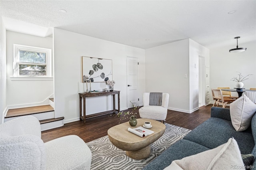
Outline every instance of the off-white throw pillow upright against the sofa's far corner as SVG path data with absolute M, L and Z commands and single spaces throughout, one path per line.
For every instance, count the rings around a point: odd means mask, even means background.
M 250 127 L 255 112 L 256 104 L 244 94 L 230 103 L 231 122 L 236 131 L 242 132 Z

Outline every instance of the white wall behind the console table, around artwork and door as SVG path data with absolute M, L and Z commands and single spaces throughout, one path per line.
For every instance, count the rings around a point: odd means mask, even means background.
M 120 43 L 84 36 L 54 28 L 54 102 L 55 117 L 64 123 L 79 120 L 79 95 L 86 91 L 81 83 L 81 56 L 112 59 L 114 90 L 120 91 L 120 108 L 126 109 L 126 57 L 138 57 L 140 101 L 145 91 L 145 50 Z M 102 90 L 106 83 L 92 83 L 92 90 Z M 116 97 L 117 101 L 117 97 Z M 117 102 L 116 102 L 117 108 Z M 86 99 L 86 115 L 112 109 L 111 96 Z

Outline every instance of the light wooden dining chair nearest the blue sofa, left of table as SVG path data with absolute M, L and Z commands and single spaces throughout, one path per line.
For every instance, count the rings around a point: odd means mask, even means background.
M 236 100 L 229 97 L 223 97 L 222 90 L 220 89 L 212 89 L 212 98 L 214 99 L 212 107 L 216 104 L 216 107 L 222 105 L 222 108 L 226 108 L 226 106 L 229 106 L 231 102 Z

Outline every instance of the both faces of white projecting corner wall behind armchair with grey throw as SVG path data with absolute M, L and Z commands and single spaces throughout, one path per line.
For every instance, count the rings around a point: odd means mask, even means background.
M 146 92 L 169 93 L 170 110 L 198 109 L 198 55 L 209 63 L 209 50 L 190 39 L 146 49 Z

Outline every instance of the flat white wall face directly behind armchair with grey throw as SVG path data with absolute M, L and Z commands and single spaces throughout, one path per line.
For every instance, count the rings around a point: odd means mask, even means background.
M 169 93 L 168 109 L 189 111 L 188 39 L 146 49 L 146 92 Z

